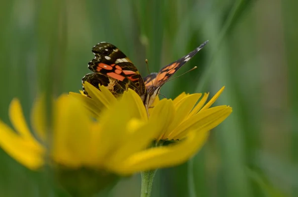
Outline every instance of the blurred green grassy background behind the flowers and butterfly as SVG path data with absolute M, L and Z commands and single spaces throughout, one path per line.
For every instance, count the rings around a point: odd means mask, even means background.
M 205 40 L 161 93 L 225 90 L 232 115 L 191 161 L 159 170 L 152 197 L 298 196 L 298 1 L 4 0 L 0 3 L 0 119 L 12 98 L 26 119 L 38 92 L 78 92 L 91 48 L 120 48 L 143 76 Z M 0 136 L 1 137 L 1 136 Z M 0 197 L 68 197 L 47 175 L 0 150 Z M 108 197 L 139 197 L 140 175 Z

